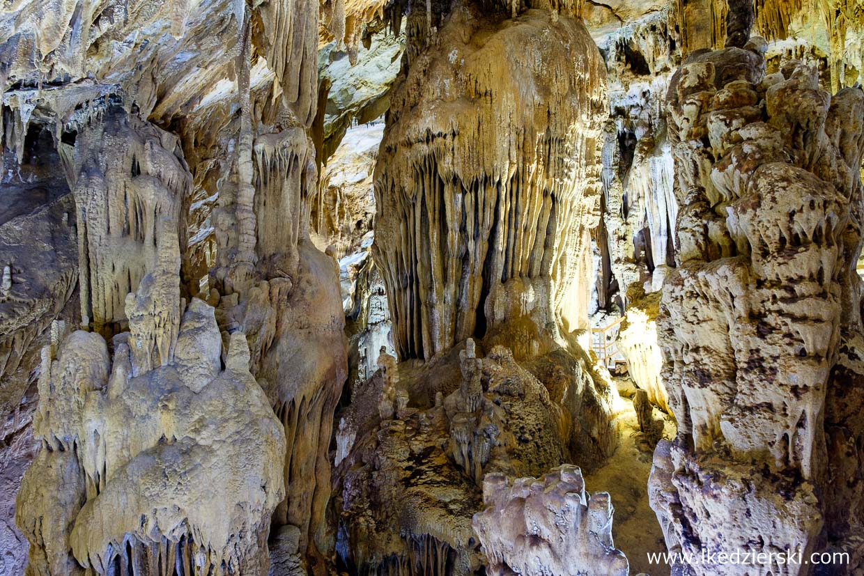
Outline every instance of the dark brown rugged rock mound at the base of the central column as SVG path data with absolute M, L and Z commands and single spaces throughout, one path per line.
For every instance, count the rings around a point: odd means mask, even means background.
M 347 566 L 473 573 L 481 557 L 471 516 L 480 510 L 484 474 L 539 475 L 566 459 L 567 416 L 543 383 L 504 347 L 486 358 L 476 351 L 472 358 L 469 346 L 465 352 L 424 369 L 423 380 L 435 371 L 469 375 L 429 408 L 379 420 L 383 372 L 353 390 L 340 435 L 354 440 L 336 470 L 337 550 Z M 477 368 L 483 385 L 473 392 Z

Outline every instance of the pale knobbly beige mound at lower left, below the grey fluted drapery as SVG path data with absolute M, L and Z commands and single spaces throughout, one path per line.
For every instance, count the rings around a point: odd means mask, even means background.
M 43 446 L 16 518 L 29 573 L 263 573 L 285 440 L 243 334 L 223 368 L 213 308 L 191 301 L 175 355 L 147 370 L 158 351 L 142 362 L 139 330 L 115 338 L 112 356 L 80 331 L 43 351 Z

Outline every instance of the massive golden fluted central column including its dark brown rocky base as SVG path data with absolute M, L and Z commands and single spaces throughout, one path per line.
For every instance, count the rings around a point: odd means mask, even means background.
M 575 332 L 600 193 L 600 54 L 570 8 L 426 10 L 405 24 L 375 172 L 372 256 L 396 356 L 382 349 L 353 385 L 336 433 L 349 573 L 476 573 L 483 478 L 595 466 L 618 441 L 619 399 Z

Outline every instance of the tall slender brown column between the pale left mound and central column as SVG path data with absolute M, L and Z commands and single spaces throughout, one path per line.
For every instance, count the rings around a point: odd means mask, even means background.
M 277 10 L 262 14 L 267 17 L 281 22 L 287 15 Z M 306 23 L 302 16 L 294 17 L 297 22 L 292 25 Z M 308 27 L 298 28 L 296 35 L 311 41 Z M 250 54 L 245 51 L 252 46 L 249 39 L 238 60 L 248 64 Z M 296 541 L 299 548 L 276 550 L 275 557 L 281 563 L 286 556 L 299 554 L 305 563 L 308 556 L 311 571 L 326 573 L 327 553 L 333 548 L 324 518 L 331 491 L 327 449 L 347 372 L 345 317 L 332 251 L 322 253 L 309 239 L 309 204 L 317 195 L 310 136 L 317 87 L 310 91 L 302 84 L 308 73 L 306 56 L 292 60 L 292 68 L 283 60 L 288 56 L 279 52 L 291 47 L 266 46 L 276 51 L 268 52 L 269 66 L 287 66 L 283 73 L 289 76 L 281 81 L 291 92 L 283 93 L 267 112 L 272 123 L 265 123 L 264 118 L 251 116 L 253 104 L 262 105 L 251 78 L 238 78 L 243 100 L 238 147 L 218 181 L 219 206 L 213 211 L 218 250 L 207 278 L 211 289 L 206 299 L 217 307 L 220 326 L 245 333 L 251 373 L 283 426 L 286 498 L 273 515 L 271 532 L 282 534 L 291 530 L 285 527 L 295 527 L 296 540 L 277 541 Z M 265 103 L 267 98 L 265 93 Z

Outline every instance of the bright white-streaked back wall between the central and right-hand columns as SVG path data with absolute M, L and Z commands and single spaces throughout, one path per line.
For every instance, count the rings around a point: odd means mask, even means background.
M 603 129 L 596 301 L 589 312 L 623 313 L 632 285 L 674 265 L 678 200 L 664 97 L 681 50 L 670 6 L 644 6 L 596 36 L 606 54 L 609 118 Z M 658 279 L 659 280 L 659 279 Z M 658 282 L 659 284 L 659 282 Z M 649 290 L 650 291 L 650 290 Z

